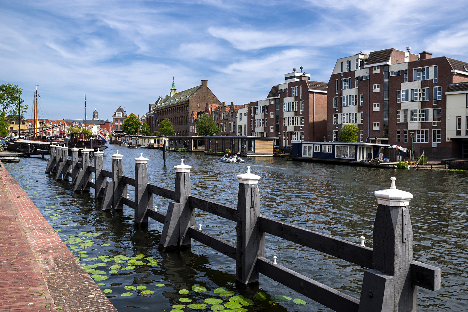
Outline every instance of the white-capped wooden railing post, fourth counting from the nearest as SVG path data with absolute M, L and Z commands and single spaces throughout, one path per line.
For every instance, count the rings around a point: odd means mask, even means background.
M 146 210 L 153 207 L 153 194 L 148 194 L 148 159 L 135 158 L 135 211 L 134 222 L 136 226 L 148 226 Z

